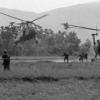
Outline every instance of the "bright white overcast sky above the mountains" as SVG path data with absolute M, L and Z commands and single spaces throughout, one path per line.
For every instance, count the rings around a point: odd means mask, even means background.
M 0 7 L 40 13 L 55 8 L 94 1 L 99 0 L 0 0 Z

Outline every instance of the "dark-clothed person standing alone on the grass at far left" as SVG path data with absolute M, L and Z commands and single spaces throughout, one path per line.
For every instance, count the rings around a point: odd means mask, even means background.
M 4 50 L 2 59 L 3 59 L 4 71 L 10 70 L 10 56 L 8 55 L 7 50 Z

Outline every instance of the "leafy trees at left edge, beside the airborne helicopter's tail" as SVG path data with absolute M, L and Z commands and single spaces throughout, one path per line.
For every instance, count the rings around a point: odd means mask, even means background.
M 18 33 L 17 26 L 14 26 L 13 24 L 14 23 L 12 22 L 8 26 L 2 26 L 0 34 L 0 41 L 2 43 L 0 47 L 2 48 L 2 51 L 7 49 L 10 55 L 15 55 L 14 50 L 16 49 L 14 48 L 16 48 L 16 46 L 14 41 Z

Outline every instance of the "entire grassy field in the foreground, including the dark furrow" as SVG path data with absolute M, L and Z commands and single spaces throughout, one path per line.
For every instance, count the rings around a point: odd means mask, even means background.
M 100 100 L 100 63 L 0 63 L 0 100 Z

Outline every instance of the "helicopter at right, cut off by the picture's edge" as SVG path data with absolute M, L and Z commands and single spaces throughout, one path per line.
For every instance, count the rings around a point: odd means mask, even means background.
M 86 30 L 92 30 L 92 31 L 96 31 L 95 34 L 92 34 L 92 39 L 93 39 L 93 49 L 95 52 L 95 56 L 94 59 L 97 59 L 97 56 L 100 55 L 100 40 L 95 40 L 95 36 L 98 35 L 98 31 L 100 31 L 100 29 L 96 28 L 90 28 L 90 27 L 84 27 L 84 26 L 77 26 L 77 25 L 70 25 L 68 23 L 63 23 L 62 24 L 64 26 L 64 28 L 67 30 L 69 28 L 79 28 L 79 29 L 86 29 Z

